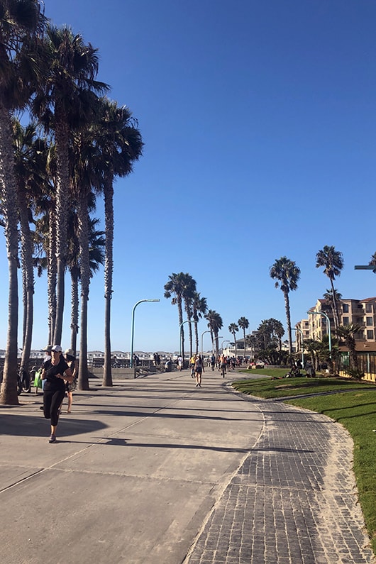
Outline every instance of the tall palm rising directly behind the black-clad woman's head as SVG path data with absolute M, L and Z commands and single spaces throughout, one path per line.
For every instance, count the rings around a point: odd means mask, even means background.
M 56 216 L 59 221 L 56 230 L 56 322 L 53 341 L 60 344 L 65 296 L 71 133 L 93 121 L 96 94 L 106 92 L 108 87 L 95 80 L 99 66 L 97 50 L 90 43 L 85 45 L 82 36 L 74 35 L 66 26 L 48 26 L 41 57 L 45 60 L 47 77 L 33 100 L 32 108 L 46 130 L 53 131 L 55 136 Z M 85 219 L 82 218 L 82 221 Z

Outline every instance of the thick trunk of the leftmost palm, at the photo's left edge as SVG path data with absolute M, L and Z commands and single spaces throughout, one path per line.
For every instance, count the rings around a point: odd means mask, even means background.
M 9 268 L 8 333 L 0 404 L 18 405 L 17 333 L 18 333 L 18 233 L 17 190 L 14 175 L 12 130 L 9 112 L 0 105 L 0 189 L 5 221 L 6 253 Z

